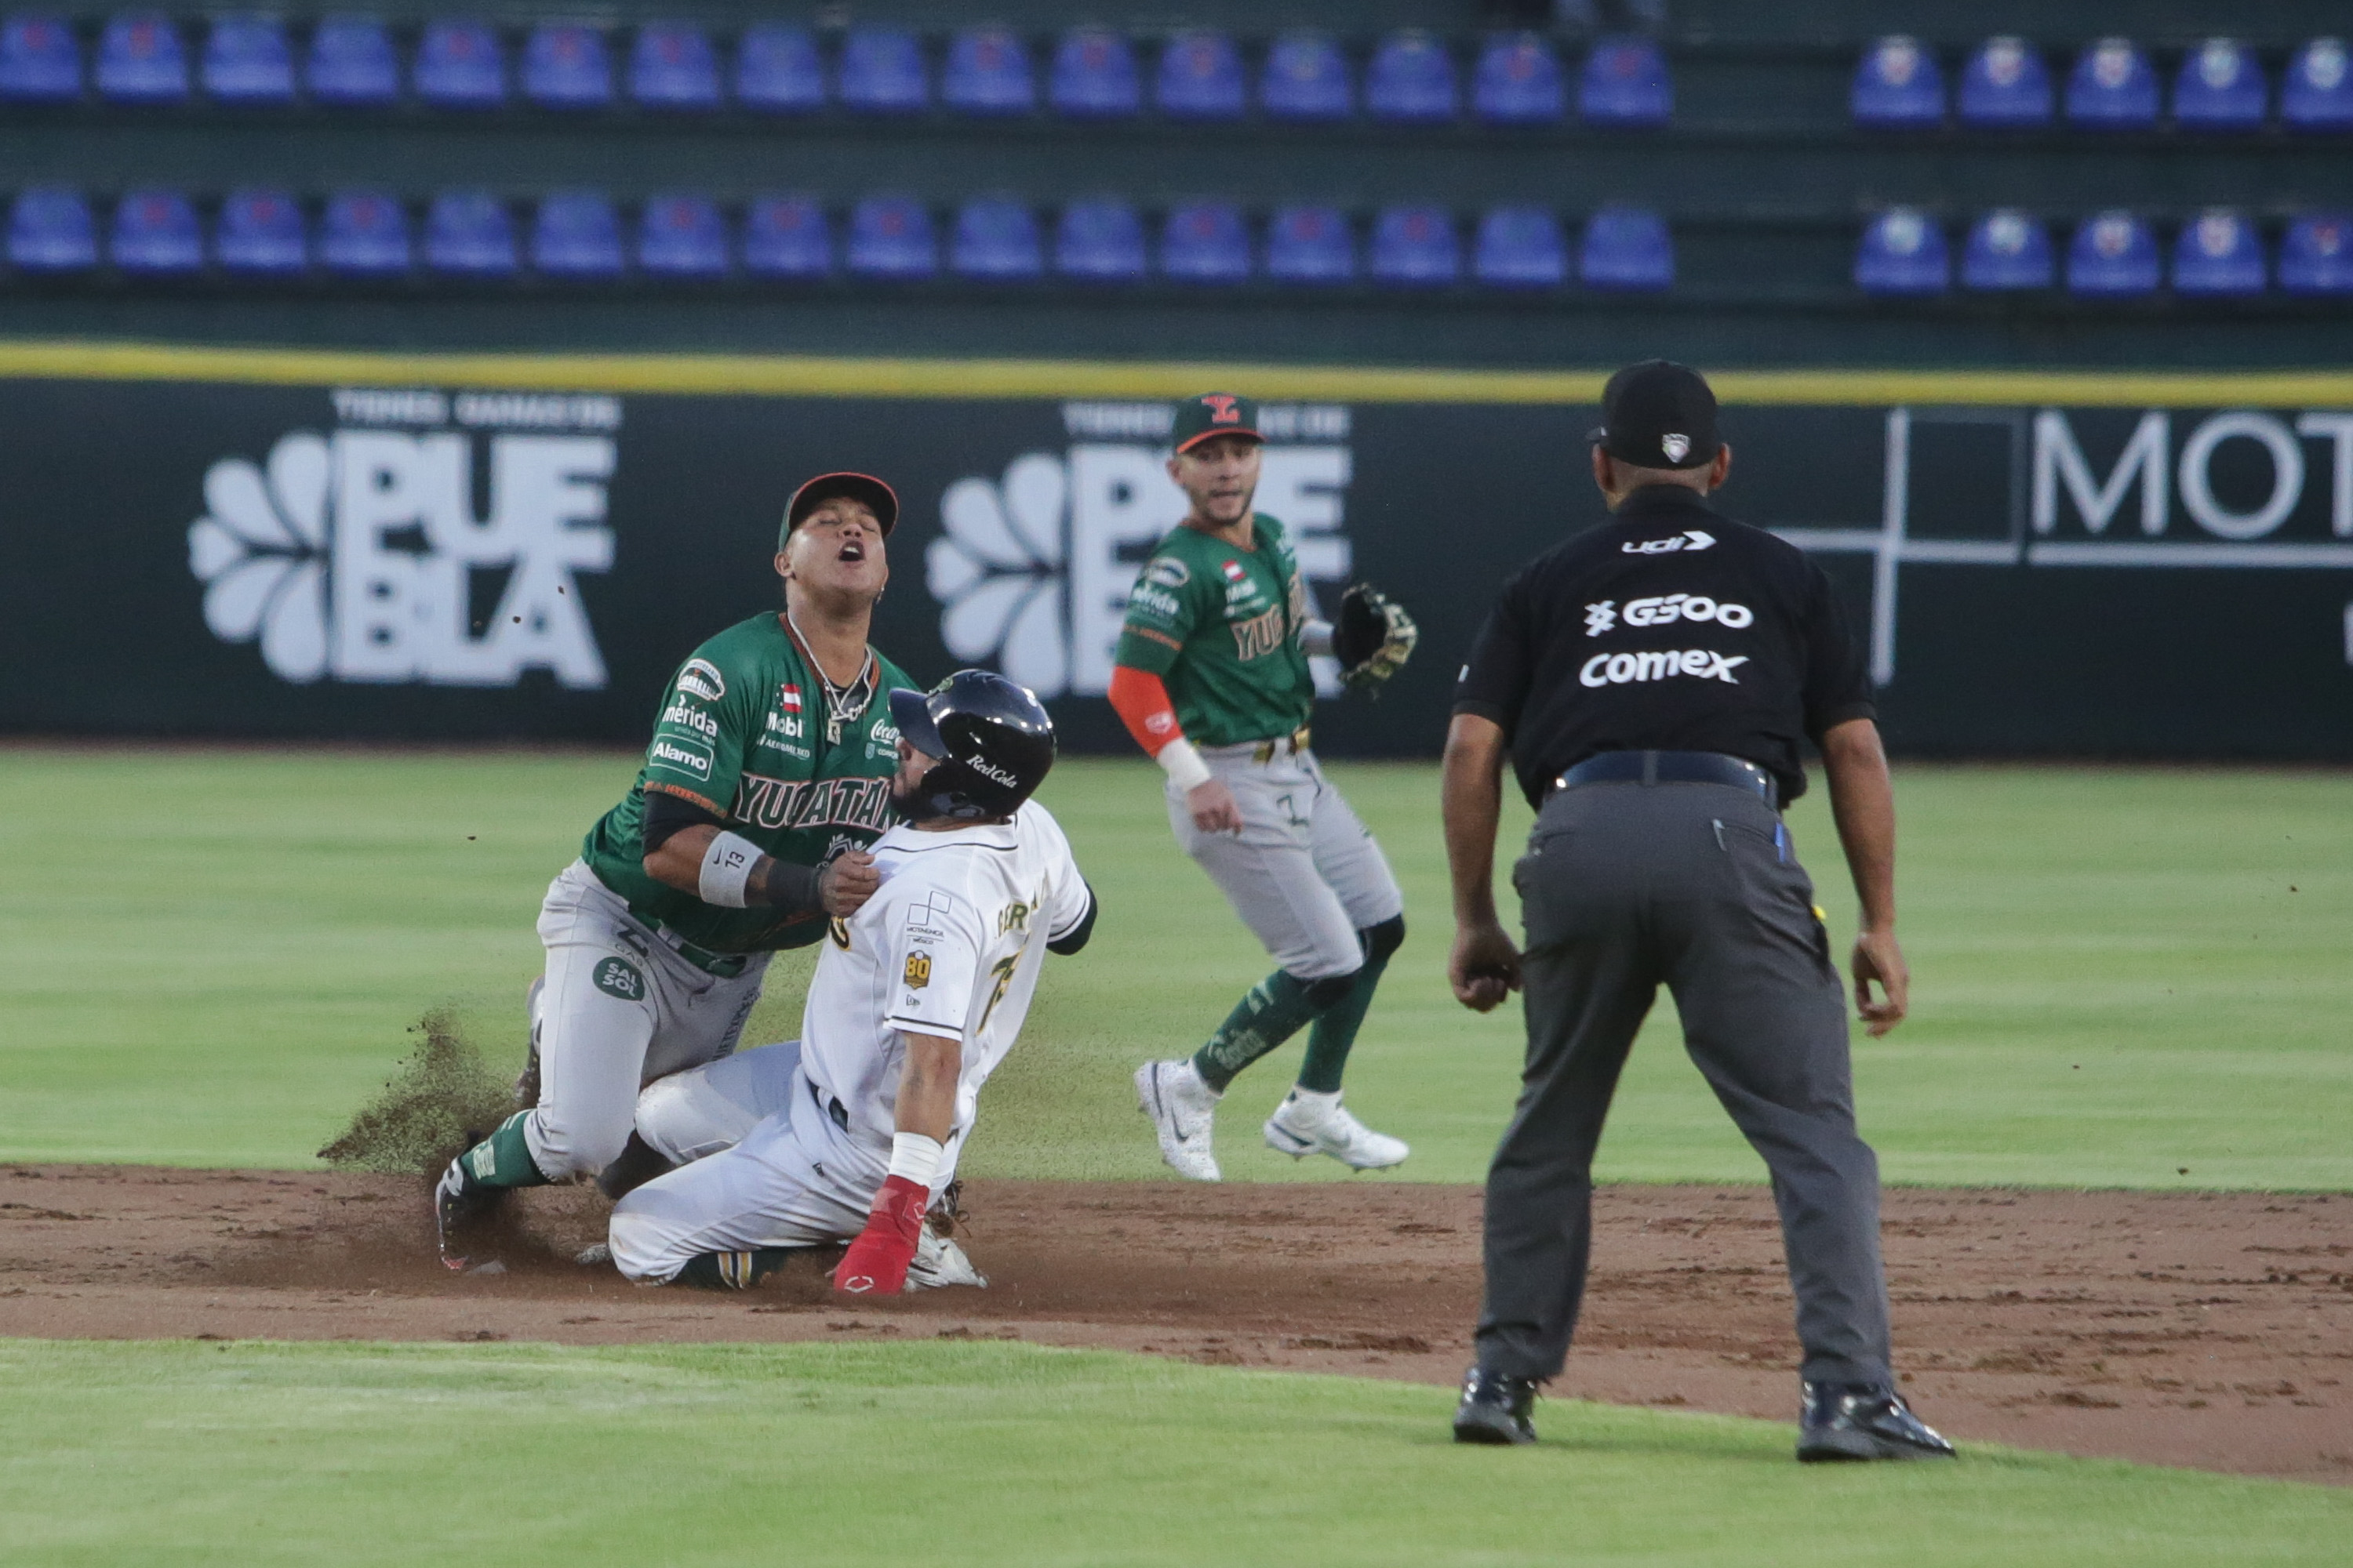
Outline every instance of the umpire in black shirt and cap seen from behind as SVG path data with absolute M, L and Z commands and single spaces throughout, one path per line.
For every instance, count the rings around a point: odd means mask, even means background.
M 1885 1034 L 1908 973 L 1894 797 L 1859 649 L 1819 567 L 1708 508 L 1732 449 L 1697 371 L 1621 369 L 1591 440 L 1614 517 L 1504 585 L 1447 731 L 1447 976 L 1482 1013 L 1527 990 L 1527 1067 L 1487 1171 L 1487 1298 L 1454 1436 L 1537 1436 L 1537 1382 L 1560 1373 L 1586 1284 L 1593 1147 L 1664 983 L 1685 1048 L 1772 1171 L 1805 1345 L 1798 1458 L 1948 1458 L 1887 1366 L 1878 1161 L 1854 1131 L 1831 936 L 1779 813 L 1805 790 L 1798 745 L 1814 741 L 1861 900 L 1854 1001 Z M 1489 870 L 1506 755 L 1537 809 L 1513 867 L 1525 957 Z

